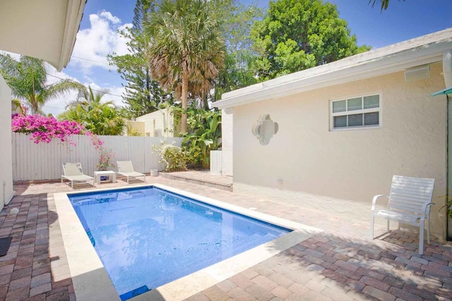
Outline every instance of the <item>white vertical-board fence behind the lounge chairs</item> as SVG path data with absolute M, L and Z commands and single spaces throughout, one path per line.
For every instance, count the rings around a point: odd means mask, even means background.
M 104 149 L 114 153 L 113 162 L 132 161 L 135 171 L 150 173 L 151 169 L 160 170 L 159 156 L 153 152 L 153 145 L 167 144 L 181 146 L 181 137 L 130 137 L 99 136 Z M 13 180 L 54 180 L 60 179 L 65 162 L 80 162 L 83 173 L 94 175 L 95 165 L 99 161 L 97 151 L 89 136 L 73 135 L 69 142 L 54 139 L 50 143 L 36 144 L 23 133 L 12 133 L 13 143 Z M 111 168 L 117 171 L 117 168 Z

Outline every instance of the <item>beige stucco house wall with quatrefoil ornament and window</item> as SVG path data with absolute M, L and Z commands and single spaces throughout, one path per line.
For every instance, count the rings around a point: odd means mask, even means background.
M 430 78 L 405 82 L 403 71 L 280 99 L 234 107 L 234 191 L 239 184 L 370 204 L 393 175 L 435 178 L 432 235 L 445 238 L 439 208 L 446 194 L 446 97 L 442 64 Z M 381 128 L 330 130 L 330 102 L 381 93 Z M 279 130 L 266 146 L 251 133 L 269 113 Z M 236 183 L 238 185 L 236 185 Z

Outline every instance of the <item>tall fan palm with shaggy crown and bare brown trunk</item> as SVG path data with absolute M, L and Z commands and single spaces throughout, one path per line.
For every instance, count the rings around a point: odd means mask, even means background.
M 211 7 L 206 0 L 163 0 L 145 23 L 151 74 L 181 98 L 182 133 L 189 92 L 206 95 L 224 61 L 225 43 Z

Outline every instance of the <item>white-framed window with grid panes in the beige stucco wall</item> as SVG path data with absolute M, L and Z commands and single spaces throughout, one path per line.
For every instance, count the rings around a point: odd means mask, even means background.
M 381 124 L 380 95 L 331 102 L 331 130 L 375 128 Z

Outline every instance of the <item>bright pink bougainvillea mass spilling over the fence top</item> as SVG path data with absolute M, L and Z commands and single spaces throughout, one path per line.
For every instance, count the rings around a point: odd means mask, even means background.
M 40 115 L 20 115 L 13 114 L 11 121 L 13 132 L 31 135 L 30 140 L 35 143 L 49 143 L 53 138 L 58 138 L 61 142 L 68 141 L 70 135 L 85 133 L 85 128 L 75 121 L 57 121 L 54 117 Z

